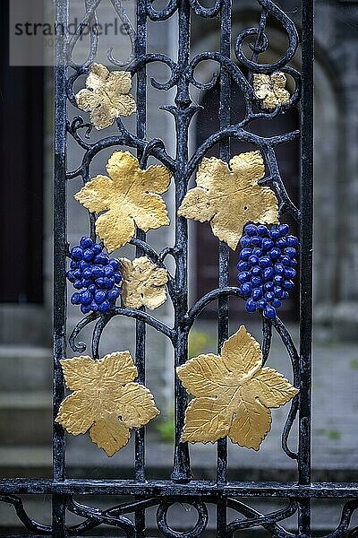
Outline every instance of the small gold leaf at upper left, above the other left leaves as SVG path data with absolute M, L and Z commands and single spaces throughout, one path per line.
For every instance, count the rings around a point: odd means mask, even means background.
M 135 112 L 135 100 L 129 93 L 132 75 L 128 71 L 110 73 L 105 65 L 92 64 L 86 80 L 86 89 L 79 91 L 76 102 L 81 110 L 90 112 L 90 120 L 96 129 L 113 124 L 115 117 L 131 116 Z

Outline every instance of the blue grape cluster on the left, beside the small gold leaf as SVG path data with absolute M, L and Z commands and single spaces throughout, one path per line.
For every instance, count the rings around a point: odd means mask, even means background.
M 66 275 L 74 292 L 72 305 L 81 305 L 82 314 L 107 312 L 115 307 L 122 288 L 120 264 L 102 252 L 103 248 L 92 239 L 84 237 L 80 245 L 71 249 L 71 265 Z

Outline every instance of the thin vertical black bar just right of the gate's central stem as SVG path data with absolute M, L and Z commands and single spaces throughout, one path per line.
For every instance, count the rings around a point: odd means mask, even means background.
M 221 10 L 220 53 L 231 56 L 231 4 L 232 0 L 224 0 Z M 220 129 L 230 125 L 231 85 L 230 74 L 222 67 L 220 69 Z M 220 143 L 220 159 L 230 160 L 230 140 Z M 219 243 L 218 251 L 218 287 L 226 288 L 229 285 L 229 247 L 223 241 Z M 220 352 L 229 332 L 229 299 L 218 299 L 217 308 L 217 351 Z M 226 484 L 227 481 L 227 438 L 217 441 L 217 484 Z M 226 536 L 227 507 L 226 499 L 217 502 L 217 538 Z

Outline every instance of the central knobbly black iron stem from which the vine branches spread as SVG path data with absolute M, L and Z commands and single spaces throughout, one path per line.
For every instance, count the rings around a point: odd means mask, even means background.
M 185 70 L 190 58 L 190 4 L 182 0 L 178 9 L 179 42 L 178 42 L 178 84 L 175 97 L 175 127 L 177 135 L 175 161 L 175 368 L 182 365 L 188 357 L 188 332 L 183 327 L 183 317 L 188 309 L 188 224 L 177 212 L 186 193 L 186 177 L 188 164 L 188 130 L 192 115 L 196 108 L 190 107 L 191 99 Z M 186 390 L 182 386 L 175 371 L 175 456 L 171 474 L 175 482 L 187 482 L 192 473 L 188 443 L 181 443 L 185 408 L 188 402 Z

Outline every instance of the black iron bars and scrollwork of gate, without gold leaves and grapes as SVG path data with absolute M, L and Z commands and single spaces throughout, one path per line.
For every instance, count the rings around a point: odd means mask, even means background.
M 184 412 L 187 404 L 187 394 L 183 386 L 175 379 L 175 450 L 174 466 L 170 481 L 146 481 L 144 458 L 144 431 L 138 430 L 135 434 L 135 480 L 131 488 L 125 491 L 132 495 L 134 500 L 107 509 L 93 508 L 77 500 L 83 501 L 82 493 L 90 485 L 91 493 L 107 493 L 103 489 L 103 482 L 96 481 L 65 481 L 64 458 L 64 431 L 55 424 L 54 431 L 54 480 L 44 485 L 43 491 L 53 495 L 54 523 L 51 527 L 41 525 L 27 516 L 21 498 L 17 495 L 2 495 L 1 502 L 9 503 L 15 509 L 19 519 L 27 529 L 35 534 L 47 534 L 58 537 L 76 536 L 85 534 L 99 525 L 109 525 L 119 529 L 127 537 L 142 538 L 145 536 L 145 514 L 148 508 L 157 508 L 158 529 L 167 538 L 199 538 L 207 529 L 209 516 L 207 505 L 213 503 L 217 508 L 217 537 L 226 538 L 234 536 L 243 529 L 262 527 L 272 536 L 290 538 L 300 536 L 306 538 L 311 535 L 310 499 L 320 496 L 320 488 L 314 490 L 311 486 L 310 466 L 310 346 L 311 346 L 311 56 L 313 50 L 312 0 L 303 0 L 303 81 L 301 75 L 289 63 L 293 60 L 299 44 L 294 23 L 272 0 L 252 0 L 257 7 L 258 23 L 253 28 L 243 30 L 238 36 L 231 35 L 232 2 L 231 0 L 212 0 L 208 5 L 201 4 L 200 0 L 167 0 L 166 5 L 158 9 L 152 0 L 138 0 L 137 24 L 132 25 L 130 17 L 125 11 L 125 4 L 121 0 L 111 0 L 115 13 L 124 24 L 131 53 L 128 57 L 116 58 L 114 48 L 107 51 L 107 58 L 115 67 L 125 67 L 137 82 L 137 122 L 135 132 L 127 128 L 121 117 L 115 120 L 115 134 L 104 136 L 100 140 L 94 139 L 92 125 L 87 117 L 81 113 L 70 119 L 67 113 L 67 103 L 77 107 L 74 86 L 80 77 L 89 74 L 90 65 L 96 60 L 100 45 L 98 34 L 93 31 L 98 24 L 98 7 L 101 0 L 84 0 L 84 15 L 79 28 L 72 37 L 60 36 L 56 46 L 56 59 L 58 65 L 55 70 L 55 412 L 64 398 L 64 379 L 61 374 L 60 360 L 65 356 L 65 256 L 68 256 L 68 245 L 65 237 L 65 187 L 64 178 L 71 181 L 81 178 L 83 185 L 90 181 L 90 165 L 93 159 L 112 147 L 131 148 L 136 151 L 142 168 L 145 168 L 149 158 L 154 158 L 166 166 L 172 173 L 175 184 L 175 243 L 170 247 L 157 252 L 149 242 L 146 235 L 138 230 L 132 246 L 137 256 L 146 255 L 159 267 L 167 268 L 167 256 L 174 260 L 175 271 L 168 272 L 168 296 L 174 305 L 174 325 L 169 326 L 161 319 L 149 314 L 144 309 L 124 308 L 118 306 L 104 314 L 91 313 L 83 317 L 72 329 L 69 344 L 74 352 L 86 350 L 86 343 L 79 338 L 85 327 L 93 324 L 91 348 L 95 359 L 100 356 L 99 348 L 102 334 L 114 317 L 132 317 L 136 320 L 136 365 L 139 371 L 140 382 L 145 375 L 145 325 L 155 328 L 165 335 L 173 344 L 175 350 L 175 367 L 180 366 L 187 358 L 188 337 L 192 325 L 200 313 L 213 301 L 218 303 L 218 348 L 228 335 L 228 299 L 242 299 L 239 288 L 229 286 L 228 280 L 228 247 L 220 243 L 219 246 L 219 274 L 218 287 L 210 291 L 191 306 L 188 304 L 187 282 L 187 247 L 188 229 L 183 217 L 176 214 L 187 192 L 188 182 L 196 172 L 209 150 L 216 144 L 220 148 L 220 158 L 230 160 L 230 141 L 251 143 L 260 150 L 266 165 L 266 177 L 260 180 L 261 185 L 271 187 L 276 195 L 279 205 L 279 215 L 290 214 L 302 227 L 302 256 L 303 270 L 302 282 L 302 334 L 301 349 L 297 350 L 286 325 L 277 317 L 269 320 L 262 317 L 262 354 L 263 361 L 268 360 L 271 347 L 272 334 L 276 331 L 284 344 L 294 378 L 294 385 L 300 386 L 301 395 L 295 397 L 287 414 L 286 424 L 282 433 L 282 448 L 286 456 L 297 461 L 298 486 L 289 484 L 286 487 L 277 484 L 266 484 L 255 490 L 254 483 L 236 483 L 238 495 L 242 497 L 261 496 L 288 498 L 286 508 L 275 510 L 268 514 L 260 513 L 251 508 L 247 502 L 238 500 L 232 494 L 230 483 L 227 482 L 227 447 L 226 439 L 217 442 L 217 480 L 215 482 L 192 481 L 192 468 L 190 464 L 189 448 L 181 443 Z M 66 22 L 70 0 L 56 0 L 57 20 Z M 191 17 L 201 17 L 203 20 L 217 17 L 221 25 L 220 48 L 217 51 L 202 51 L 191 56 Z M 175 59 L 163 53 L 147 51 L 147 22 L 164 22 L 175 18 L 178 23 L 178 54 Z M 277 25 L 286 34 L 286 50 L 277 61 L 271 64 L 260 62 L 261 56 L 269 48 L 267 32 L 268 18 L 274 18 Z M 83 25 L 90 26 L 90 45 L 85 62 L 76 64 L 73 59 L 81 38 Z M 234 42 L 234 53 L 231 52 L 231 43 Z M 203 63 L 217 65 L 217 71 L 211 74 L 209 81 L 200 82 L 197 73 Z M 156 64 L 168 71 L 165 82 L 150 79 L 150 84 L 158 91 L 176 89 L 175 100 L 163 109 L 175 119 L 175 155 L 171 155 L 166 144 L 158 138 L 147 137 L 147 74 L 148 65 Z M 278 105 L 274 109 L 265 109 L 257 98 L 254 85 L 254 74 L 274 74 L 277 70 L 288 75 L 294 84 L 290 98 L 285 105 Z M 306 77 L 306 78 L 304 78 Z M 306 82 L 305 82 L 306 81 Z M 308 82 L 307 82 L 308 81 Z M 200 106 L 192 99 L 192 87 L 199 91 L 206 91 L 216 83 L 220 87 L 219 129 L 194 148 L 189 154 L 189 131 L 192 120 Z M 244 117 L 238 123 L 233 123 L 230 115 L 231 91 L 236 87 L 241 92 L 244 101 Z M 255 132 L 259 122 L 269 122 L 287 110 L 296 107 L 303 95 L 303 196 L 302 204 L 296 207 L 288 195 L 285 181 L 281 177 L 279 163 L 277 162 L 277 146 L 297 140 L 301 134 L 298 131 L 281 133 L 274 136 L 262 136 Z M 81 148 L 81 164 L 77 169 L 66 169 L 66 141 L 68 137 Z M 96 240 L 96 215 L 90 214 L 90 238 Z M 298 450 L 289 447 L 289 436 L 299 412 L 299 447 Z M 123 481 L 112 483 L 111 488 L 121 493 Z M 204 484 L 204 486 L 203 486 Z M 9 485 L 9 484 L 8 484 Z M 106 482 L 107 487 L 107 482 Z M 115 489 L 117 487 L 117 490 Z M 129 487 L 129 486 L 128 486 Z M 188 489 L 185 490 L 185 487 Z M 12 484 L 9 485 L 11 490 Z M 252 489 L 253 488 L 253 489 Z M 300 489 L 301 488 L 301 489 Z M 36 491 L 42 491 L 38 485 Z M 29 489 L 27 490 L 29 492 Z M 328 491 L 328 496 L 333 488 Z M 340 496 L 339 489 L 337 497 Z M 250 494 L 249 494 L 250 493 Z M 344 497 L 345 494 L 342 494 Z M 194 508 L 198 520 L 192 531 L 178 532 L 168 524 L 168 510 L 175 502 L 183 502 Z M 234 510 L 239 516 L 233 521 L 227 521 L 227 508 Z M 345 503 L 341 521 L 337 529 L 326 538 L 343 538 L 348 532 L 349 525 L 356 510 L 357 501 L 349 500 Z M 282 526 L 286 520 L 298 513 L 299 534 L 291 534 Z M 82 518 L 77 525 L 66 525 L 65 515 Z M 132 516 L 131 516 L 132 515 Z M 131 516 L 131 518 L 130 518 Z M 351 538 L 357 536 L 357 528 L 349 531 Z

